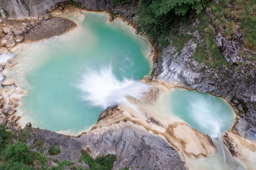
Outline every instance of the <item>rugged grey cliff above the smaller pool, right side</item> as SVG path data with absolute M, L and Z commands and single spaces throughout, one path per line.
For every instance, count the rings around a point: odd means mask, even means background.
M 216 33 L 216 44 L 230 63 L 230 68 L 222 65 L 213 69 L 196 61 L 191 57 L 196 49 L 196 43 L 192 40 L 187 42 L 180 54 L 176 47 L 169 45 L 163 49 L 155 64 L 154 80 L 225 97 L 244 117 L 236 124 L 238 133 L 247 139 L 256 140 L 255 62 L 249 59 L 249 54 L 248 57 L 241 57 L 239 44 L 242 39 L 243 33 L 240 31 L 230 41 Z

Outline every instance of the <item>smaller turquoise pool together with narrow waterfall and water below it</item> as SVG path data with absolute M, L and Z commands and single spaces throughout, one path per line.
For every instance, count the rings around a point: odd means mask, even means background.
M 233 108 L 224 99 L 182 88 L 174 88 L 166 98 L 169 98 L 166 100 L 166 105 L 169 106 L 170 113 L 212 138 L 217 149 L 215 154 L 218 156 L 212 156 L 214 161 L 210 160 L 211 158 L 204 161 L 209 162 L 207 166 L 210 165 L 211 169 L 218 170 L 247 169 L 240 160 L 230 155 L 221 137 L 222 133 L 230 130 L 235 118 Z

